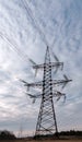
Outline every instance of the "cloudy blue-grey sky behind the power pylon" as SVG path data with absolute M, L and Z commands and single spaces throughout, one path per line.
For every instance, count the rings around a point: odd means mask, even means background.
M 54 79 L 72 79 L 54 100 L 58 130 L 82 130 L 82 0 L 0 0 L 0 130 L 35 132 L 40 99 L 20 79 L 43 80 L 28 59 L 43 63 L 47 45 L 65 63 Z

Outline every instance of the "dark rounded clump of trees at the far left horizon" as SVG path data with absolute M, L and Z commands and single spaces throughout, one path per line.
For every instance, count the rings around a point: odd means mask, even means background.
M 15 135 L 10 131 L 0 131 L 0 140 L 13 140 L 16 139 Z

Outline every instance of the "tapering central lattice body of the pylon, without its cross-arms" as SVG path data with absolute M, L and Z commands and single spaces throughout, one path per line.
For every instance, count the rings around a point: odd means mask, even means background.
M 54 64 L 52 64 L 54 66 Z M 58 132 L 52 100 L 52 80 L 49 48 L 47 47 L 43 78 L 43 96 L 36 126 L 36 135 Z

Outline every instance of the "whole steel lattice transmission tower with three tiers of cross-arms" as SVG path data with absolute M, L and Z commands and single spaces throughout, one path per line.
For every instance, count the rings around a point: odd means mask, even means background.
M 24 85 L 27 86 L 27 88 L 42 87 L 43 90 L 43 92 L 37 95 L 27 93 L 30 97 L 34 98 L 34 102 L 36 98 L 42 98 L 35 135 L 58 133 L 52 98 L 57 97 L 57 100 L 59 100 L 61 96 L 66 98 L 66 94 L 59 91 L 55 91 L 54 88 L 57 85 L 62 85 L 62 87 L 65 87 L 66 84 L 71 81 L 67 78 L 67 75 L 63 75 L 63 80 L 52 80 L 52 69 L 56 69 L 57 72 L 59 68 L 62 69 L 63 67 L 63 62 L 60 62 L 54 52 L 52 56 L 56 59 L 56 62 L 50 61 L 49 47 L 47 46 L 45 62 L 43 64 L 36 64 L 32 59 L 30 59 L 30 61 L 33 63 L 33 69 L 35 69 L 36 72 L 38 69 L 44 70 L 43 81 L 27 83 L 26 81 L 21 80 Z

